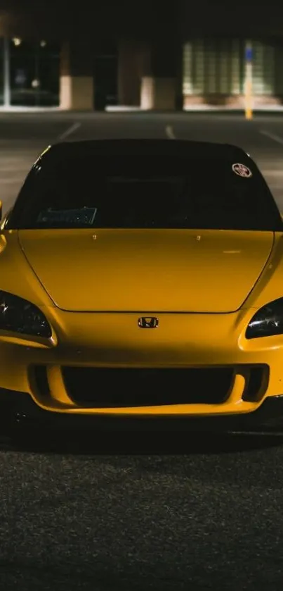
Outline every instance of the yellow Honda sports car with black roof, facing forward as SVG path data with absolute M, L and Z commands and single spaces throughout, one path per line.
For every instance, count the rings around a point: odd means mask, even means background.
M 283 224 L 242 149 L 56 144 L 0 244 L 3 412 L 188 428 L 283 416 Z

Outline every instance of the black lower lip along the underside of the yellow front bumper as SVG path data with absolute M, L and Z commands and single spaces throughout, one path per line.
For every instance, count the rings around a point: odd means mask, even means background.
M 129 416 L 70 414 L 45 411 L 25 392 L 0 390 L 0 423 L 7 429 L 22 427 L 52 430 L 158 432 L 270 432 L 283 431 L 283 394 L 265 398 L 261 406 L 251 413 L 218 416 Z

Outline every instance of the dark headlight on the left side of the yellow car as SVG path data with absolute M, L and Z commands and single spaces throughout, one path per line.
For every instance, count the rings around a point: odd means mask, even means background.
M 44 314 L 27 299 L 0 291 L 0 330 L 49 338 L 51 327 Z

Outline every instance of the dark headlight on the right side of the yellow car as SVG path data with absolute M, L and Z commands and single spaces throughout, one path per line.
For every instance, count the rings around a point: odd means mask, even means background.
M 283 335 L 283 297 L 258 310 L 246 329 L 246 339 Z

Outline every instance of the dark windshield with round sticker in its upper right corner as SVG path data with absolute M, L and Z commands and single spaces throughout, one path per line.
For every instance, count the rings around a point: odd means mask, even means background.
M 282 230 L 258 168 L 250 159 L 248 169 L 236 164 L 176 156 L 50 159 L 32 168 L 7 228 Z

